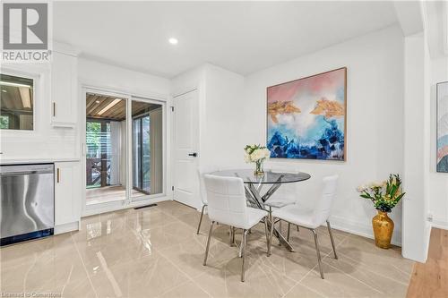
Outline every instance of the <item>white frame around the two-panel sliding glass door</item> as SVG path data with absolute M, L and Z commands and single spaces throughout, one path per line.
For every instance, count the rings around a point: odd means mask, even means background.
M 81 154 L 81 164 L 82 164 L 82 217 L 95 215 L 99 213 L 104 212 L 110 212 L 115 211 L 119 209 L 128 209 L 128 208 L 134 208 L 136 206 L 142 206 L 147 205 L 149 203 L 154 203 L 162 200 L 170 200 L 168 197 L 171 195 L 170 192 L 167 192 L 167 185 L 168 185 L 168 152 L 170 152 L 170 143 L 168 143 L 168 132 L 170 129 L 170 126 L 168 126 L 168 120 L 167 120 L 167 98 L 162 98 L 159 95 L 152 94 L 152 95 L 140 95 L 140 94 L 132 94 L 125 91 L 116 91 L 111 90 L 110 88 L 101 88 L 96 86 L 90 86 L 88 84 L 81 84 L 81 102 L 80 105 L 80 144 L 82 148 L 82 154 Z M 87 207 L 86 204 L 86 144 L 85 144 L 85 138 L 86 138 L 86 94 L 87 92 L 93 92 L 93 93 L 100 93 L 102 95 L 110 96 L 110 97 L 117 97 L 117 98 L 125 98 L 126 99 L 126 149 L 125 149 L 125 155 L 126 155 L 126 167 L 125 167 L 125 176 L 126 176 L 126 198 L 125 200 L 116 200 L 111 202 L 105 202 L 101 204 L 95 204 Z M 132 154 L 128 152 L 130 148 L 132 148 L 132 111 L 131 111 L 131 105 L 132 105 L 132 99 L 136 99 L 138 101 L 145 101 L 148 103 L 157 103 L 162 106 L 163 109 L 163 146 L 164 146 L 164 158 L 163 158 L 163 193 L 154 194 L 154 195 L 148 195 L 145 196 L 142 200 L 132 200 L 131 197 L 131 189 L 132 189 Z M 151 99 L 150 99 L 151 98 Z

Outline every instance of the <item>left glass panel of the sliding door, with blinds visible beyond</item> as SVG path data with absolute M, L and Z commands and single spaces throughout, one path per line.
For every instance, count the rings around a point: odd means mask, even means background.
M 86 94 L 86 204 L 126 199 L 126 99 Z

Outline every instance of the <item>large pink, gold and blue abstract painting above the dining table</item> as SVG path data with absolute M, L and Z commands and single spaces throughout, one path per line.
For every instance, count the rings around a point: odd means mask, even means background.
M 267 89 L 271 158 L 346 159 L 347 68 Z

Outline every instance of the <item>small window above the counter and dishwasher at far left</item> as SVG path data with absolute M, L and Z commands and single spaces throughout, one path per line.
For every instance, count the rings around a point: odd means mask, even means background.
M 0 74 L 0 129 L 34 129 L 34 81 L 30 78 Z

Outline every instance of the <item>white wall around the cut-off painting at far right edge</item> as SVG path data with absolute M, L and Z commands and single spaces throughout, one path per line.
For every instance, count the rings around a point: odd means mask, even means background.
M 448 174 L 436 173 L 436 89 L 435 84 L 448 81 L 448 57 L 431 61 L 431 159 L 429 163 L 429 206 L 433 226 L 448 229 Z

